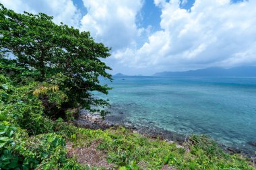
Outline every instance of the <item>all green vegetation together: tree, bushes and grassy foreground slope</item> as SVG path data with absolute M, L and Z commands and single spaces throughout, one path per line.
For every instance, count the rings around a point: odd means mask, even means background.
M 111 80 L 109 48 L 89 32 L 56 25 L 43 13 L 18 14 L 0 4 L 0 169 L 99 169 L 68 156 L 66 143 L 104 151 L 113 169 L 253 169 L 240 155 L 224 153 L 205 136 L 184 147 L 125 128 L 90 130 L 71 120 L 80 108 L 102 115 Z M 102 110 L 96 110 L 101 106 Z M 104 169 L 104 168 L 102 168 Z

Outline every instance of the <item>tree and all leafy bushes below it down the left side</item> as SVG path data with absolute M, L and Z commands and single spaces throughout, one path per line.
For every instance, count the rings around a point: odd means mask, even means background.
M 0 169 L 95 169 L 67 157 L 75 132 L 61 118 L 108 105 L 92 91 L 110 89 L 98 79 L 111 80 L 110 49 L 52 20 L 0 4 Z

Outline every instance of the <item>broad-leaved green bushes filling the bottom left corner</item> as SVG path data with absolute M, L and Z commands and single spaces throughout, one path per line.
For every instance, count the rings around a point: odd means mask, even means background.
M 94 169 L 66 157 L 65 140 L 55 133 L 28 136 L 26 130 L 0 124 L 1 169 Z

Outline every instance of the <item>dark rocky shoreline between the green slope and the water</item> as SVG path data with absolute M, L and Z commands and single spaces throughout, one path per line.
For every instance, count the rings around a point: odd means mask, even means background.
M 135 126 L 132 126 L 130 124 L 122 124 L 122 123 L 113 123 L 110 122 L 109 120 L 103 120 L 102 116 L 100 114 L 91 114 L 90 112 L 87 112 L 86 110 L 83 110 L 80 114 L 77 120 L 74 120 L 73 123 L 76 126 L 83 127 L 83 128 L 90 128 L 94 130 L 106 130 L 108 128 L 118 128 L 120 126 L 123 126 L 131 132 L 134 133 L 139 133 L 144 136 L 148 136 L 150 138 L 160 138 L 162 140 L 166 140 L 168 142 L 176 142 L 179 146 L 182 146 L 183 142 L 187 139 L 187 136 L 177 134 L 174 132 L 170 132 L 168 130 L 161 130 L 156 131 L 156 130 L 151 130 L 148 128 L 138 128 Z M 255 142 L 252 142 L 255 144 Z M 223 144 L 220 144 L 220 146 L 226 151 L 227 153 L 230 154 L 242 154 L 242 155 L 247 155 L 251 157 L 252 161 L 256 162 L 256 155 L 251 155 L 250 153 L 244 153 L 241 149 L 238 148 L 233 148 L 229 146 L 225 146 Z

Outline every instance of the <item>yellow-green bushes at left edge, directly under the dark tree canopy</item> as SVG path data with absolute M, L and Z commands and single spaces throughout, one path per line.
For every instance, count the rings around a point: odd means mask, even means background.
M 18 124 L 30 134 L 49 132 L 51 124 L 46 121 L 42 101 L 33 95 L 37 87 L 38 83 L 31 83 L 15 88 L 9 79 L 0 75 L 0 121 Z M 49 101 L 52 97 L 55 97 L 55 101 L 59 99 L 59 93 L 56 93 L 51 93 Z

